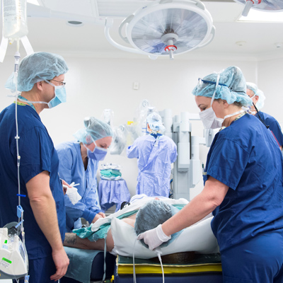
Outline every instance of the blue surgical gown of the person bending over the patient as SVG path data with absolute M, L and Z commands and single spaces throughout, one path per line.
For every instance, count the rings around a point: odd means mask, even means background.
M 85 170 L 81 158 L 81 146 L 78 141 L 67 141 L 56 146 L 59 156 L 59 176 L 67 183 L 79 184 L 76 186 L 81 200 L 72 204 L 69 197 L 65 195 L 66 206 L 66 229 L 81 228 L 81 217 L 89 223 L 98 212 L 101 212 L 96 173 L 98 161 L 88 158 L 88 166 Z

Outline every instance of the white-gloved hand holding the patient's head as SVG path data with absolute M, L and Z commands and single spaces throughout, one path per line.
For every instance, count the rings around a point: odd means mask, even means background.
M 167 242 L 171 239 L 171 236 L 167 236 L 159 224 L 156 228 L 139 234 L 138 240 L 144 239 L 144 243 L 149 246 L 149 250 L 154 250 L 154 248 L 161 245 L 161 243 Z

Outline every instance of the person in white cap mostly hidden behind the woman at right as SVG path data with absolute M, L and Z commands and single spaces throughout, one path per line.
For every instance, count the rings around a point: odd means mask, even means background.
M 278 145 L 282 150 L 283 134 L 279 122 L 277 122 L 275 117 L 272 117 L 265 112 L 259 111 L 261 108 L 263 108 L 264 105 L 264 93 L 260 91 L 260 89 L 258 89 L 258 86 L 255 83 L 247 82 L 247 94 L 248 96 L 250 96 L 250 98 L 253 99 L 253 106 L 250 107 L 251 114 L 255 115 L 255 117 L 260 119 L 260 121 L 263 122 L 266 127 L 268 127 L 268 129 L 270 129 L 270 131 L 275 135 L 275 138 L 278 141 Z

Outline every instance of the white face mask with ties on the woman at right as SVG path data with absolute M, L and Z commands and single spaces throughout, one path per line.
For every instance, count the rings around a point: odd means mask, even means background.
M 215 97 L 215 93 L 216 93 L 216 88 L 219 84 L 219 78 L 220 78 L 220 74 L 218 74 L 217 76 L 217 80 L 216 80 L 216 85 L 215 85 L 215 91 L 212 95 L 212 102 L 210 103 L 210 108 L 200 112 L 200 120 L 202 120 L 202 123 L 204 125 L 204 129 L 217 129 L 222 127 L 222 123 L 224 122 L 224 120 L 226 118 L 232 117 L 233 115 L 237 115 L 240 114 L 241 112 L 244 112 L 245 110 L 240 110 L 238 112 L 234 112 L 232 114 L 226 115 L 224 118 L 219 118 L 216 117 L 216 114 L 212 108 L 212 103 L 214 101 L 214 97 Z

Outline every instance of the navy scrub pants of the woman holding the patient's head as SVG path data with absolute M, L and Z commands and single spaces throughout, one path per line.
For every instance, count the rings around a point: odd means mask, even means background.
M 221 252 L 224 283 L 282 283 L 283 231 L 261 233 Z

